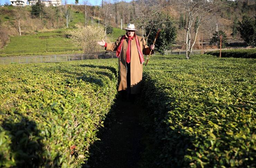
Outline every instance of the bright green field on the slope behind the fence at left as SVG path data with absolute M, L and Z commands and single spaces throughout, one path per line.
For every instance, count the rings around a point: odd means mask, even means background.
M 10 41 L 5 48 L 0 50 L 1 56 L 51 55 L 77 53 L 82 50 L 81 47 L 75 46 L 71 39 L 66 38 L 62 29 L 52 32 L 40 32 L 29 36 L 14 36 L 10 38 Z

